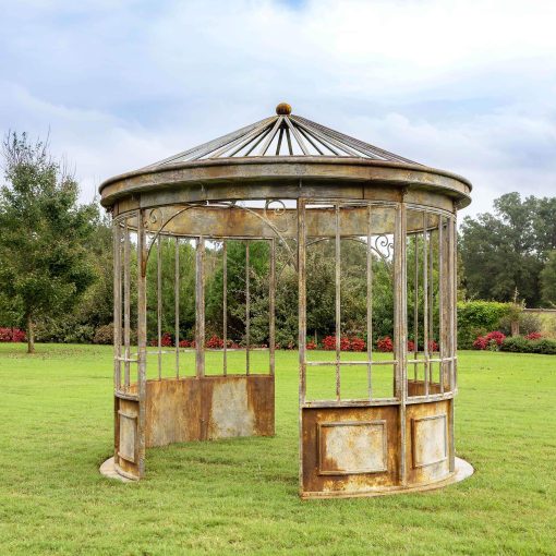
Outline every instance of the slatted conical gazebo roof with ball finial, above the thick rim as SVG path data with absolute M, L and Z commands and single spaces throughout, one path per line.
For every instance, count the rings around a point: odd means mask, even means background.
M 194 160 L 261 156 L 348 157 L 416 164 L 301 116 L 292 114 L 290 105 L 286 102 L 276 107 L 276 113 L 277 116 L 265 118 L 208 143 L 154 162 L 143 170 L 155 170 L 168 165 Z

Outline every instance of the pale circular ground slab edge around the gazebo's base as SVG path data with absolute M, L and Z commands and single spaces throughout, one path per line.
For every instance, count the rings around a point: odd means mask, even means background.
M 107 476 L 108 479 L 116 479 L 117 481 L 121 481 L 122 483 L 133 483 L 134 481 L 132 479 L 128 479 L 125 476 L 122 476 L 116 471 L 113 457 L 107 459 L 101 466 L 100 466 L 100 474 L 104 476 Z M 464 479 L 470 478 L 474 473 L 473 466 L 471 463 L 467 462 L 464 459 L 456 458 L 456 470 L 455 472 L 448 476 L 447 479 L 444 479 L 442 481 L 437 481 L 435 483 L 430 483 L 426 485 L 418 485 L 418 486 L 407 486 L 407 487 L 390 487 L 390 488 L 383 488 L 380 491 L 365 491 L 362 493 L 338 493 L 338 494 L 322 494 L 322 495 L 313 495 L 313 496 L 304 496 L 304 498 L 342 498 L 342 497 L 370 497 L 370 496 L 387 496 L 390 494 L 407 494 L 407 493 L 424 493 L 427 491 L 435 491 L 437 488 L 443 488 L 444 486 L 448 486 L 450 484 L 459 483 L 460 481 L 463 481 Z

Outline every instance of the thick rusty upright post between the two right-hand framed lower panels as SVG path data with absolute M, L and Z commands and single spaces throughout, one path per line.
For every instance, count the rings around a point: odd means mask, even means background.
M 395 289 L 395 349 L 396 349 L 396 396 L 400 400 L 399 421 L 399 474 L 402 485 L 407 483 L 407 415 L 408 397 L 408 310 L 407 310 L 407 215 L 406 204 L 400 203 L 396 210 L 394 289 Z

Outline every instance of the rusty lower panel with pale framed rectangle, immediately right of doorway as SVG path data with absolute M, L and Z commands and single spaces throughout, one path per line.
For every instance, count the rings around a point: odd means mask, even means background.
M 302 496 L 397 485 L 398 426 L 397 404 L 303 409 Z

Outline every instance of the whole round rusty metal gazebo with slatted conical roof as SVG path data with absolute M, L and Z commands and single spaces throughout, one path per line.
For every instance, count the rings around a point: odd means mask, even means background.
M 461 480 L 472 468 L 456 457 L 454 437 L 456 213 L 469 204 L 471 184 L 294 116 L 287 104 L 276 112 L 100 186 L 114 237 L 114 456 L 104 470 L 141 479 L 149 447 L 274 435 L 281 250 L 299 287 L 301 496 L 372 496 Z M 241 374 L 237 366 L 229 372 L 227 342 L 227 285 L 229 273 L 238 271 L 227 265 L 232 241 L 245 244 Z M 266 368 L 255 364 L 250 341 L 253 241 L 268 243 Z M 359 359 L 346 356 L 340 345 L 347 241 L 363 244 L 366 261 L 366 351 Z M 164 271 L 169 279 L 161 254 L 170 242 L 173 290 L 162 288 L 161 278 Z M 335 262 L 331 356 L 306 350 L 306 257 L 324 242 L 334 246 Z M 186 293 L 195 300 L 190 375 L 183 370 L 188 353 L 180 348 L 179 259 L 184 243 L 195 253 L 195 283 Z M 207 252 L 218 254 L 211 265 L 219 262 L 222 275 L 225 341 L 216 374 L 214 368 L 207 372 L 206 363 L 213 355 L 205 348 Z M 374 349 L 373 292 L 380 261 L 391 269 L 391 354 Z M 176 307 L 170 348 L 162 338 L 165 303 Z M 154 346 L 147 318 L 156 323 Z M 168 364 L 171 374 L 164 371 Z M 334 383 L 329 395 L 318 386 L 325 376 Z M 353 380 L 364 385 L 355 396 Z

